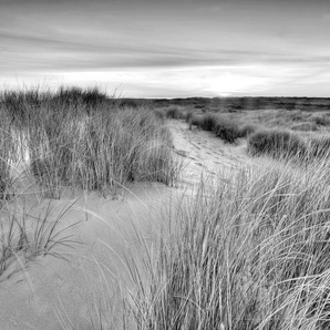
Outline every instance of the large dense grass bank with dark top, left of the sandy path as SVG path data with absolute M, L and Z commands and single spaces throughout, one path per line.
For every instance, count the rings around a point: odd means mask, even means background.
M 48 197 L 60 198 L 68 187 L 114 192 L 127 182 L 174 183 L 179 165 L 163 114 L 127 100 L 120 106 L 97 87 L 3 95 L 1 111 L 27 145 L 30 173 Z

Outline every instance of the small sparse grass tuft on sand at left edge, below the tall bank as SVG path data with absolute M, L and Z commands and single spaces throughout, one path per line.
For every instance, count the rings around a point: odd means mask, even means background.
M 74 203 L 73 203 L 74 204 Z M 72 204 L 72 205 L 73 205 Z M 64 207 L 54 214 L 52 203 L 45 205 L 45 209 L 35 214 L 33 208 L 27 208 L 18 200 L 2 209 L 0 215 L 0 276 L 12 265 L 12 271 L 37 256 L 52 255 L 64 258 L 56 248 L 64 246 L 73 248 L 79 244 L 73 235 L 68 233 L 78 223 L 63 225 L 63 218 L 72 205 Z

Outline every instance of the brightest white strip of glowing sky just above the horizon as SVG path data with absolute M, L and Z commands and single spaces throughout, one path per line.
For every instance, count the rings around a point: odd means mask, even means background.
M 63 72 L 54 78 L 69 84 L 106 84 L 121 87 L 131 96 L 228 96 L 265 89 L 269 81 L 258 68 L 190 66 L 190 68 L 148 68 L 118 69 L 113 71 Z M 141 94 L 141 91 L 149 94 Z

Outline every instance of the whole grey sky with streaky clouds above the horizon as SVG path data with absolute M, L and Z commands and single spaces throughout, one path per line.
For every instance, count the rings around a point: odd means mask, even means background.
M 330 97 L 330 0 L 0 0 L 0 85 Z

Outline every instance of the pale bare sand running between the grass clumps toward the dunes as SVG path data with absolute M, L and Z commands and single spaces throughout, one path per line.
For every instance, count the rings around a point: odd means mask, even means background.
M 31 213 L 51 203 L 50 220 L 69 208 L 61 224 L 73 225 L 65 234 L 79 244 L 54 247 L 66 260 L 39 256 L 27 264 L 13 262 L 0 277 L 0 329 L 93 329 L 92 320 L 99 329 L 100 312 L 109 319 L 105 329 L 122 328 L 115 310 L 120 290 L 134 290 L 127 265 L 142 267 L 148 247 L 166 235 L 173 220 L 166 216 L 168 209 L 189 194 L 187 187 L 194 187 L 202 173 L 226 177 L 248 161 L 244 140 L 229 145 L 212 133 L 189 131 L 181 121 L 168 125 L 184 165 L 178 187 L 140 183 L 123 189 L 115 200 L 96 193 L 74 198 L 68 194 L 61 200 L 27 195 Z M 126 262 L 125 256 L 134 262 Z

